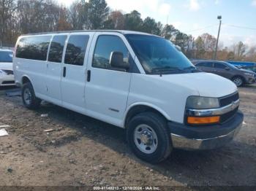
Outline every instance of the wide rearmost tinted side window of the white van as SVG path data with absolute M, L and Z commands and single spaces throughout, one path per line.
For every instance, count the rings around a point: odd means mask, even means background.
M 18 42 L 16 57 L 46 61 L 51 36 L 23 37 Z

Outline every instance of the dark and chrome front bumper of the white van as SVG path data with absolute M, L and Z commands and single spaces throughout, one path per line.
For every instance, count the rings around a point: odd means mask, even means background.
M 173 147 L 178 149 L 215 149 L 232 141 L 241 129 L 244 114 L 238 111 L 220 125 L 188 126 L 168 122 Z

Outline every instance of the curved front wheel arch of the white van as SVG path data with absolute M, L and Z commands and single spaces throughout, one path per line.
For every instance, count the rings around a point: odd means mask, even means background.
M 165 120 L 170 120 L 170 117 L 167 115 L 165 111 L 160 109 L 158 106 L 154 106 L 148 103 L 136 103 L 132 104 L 128 107 L 127 112 L 124 114 L 124 122 L 123 127 L 127 127 L 127 122 L 132 119 L 136 114 L 140 114 L 142 112 L 154 112 L 164 117 Z

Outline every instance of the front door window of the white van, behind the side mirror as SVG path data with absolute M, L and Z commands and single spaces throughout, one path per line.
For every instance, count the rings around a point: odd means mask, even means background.
M 113 69 L 110 66 L 111 52 L 122 52 L 124 63 L 129 62 L 129 51 L 121 38 L 118 36 L 101 35 L 97 39 L 92 66 L 100 69 Z

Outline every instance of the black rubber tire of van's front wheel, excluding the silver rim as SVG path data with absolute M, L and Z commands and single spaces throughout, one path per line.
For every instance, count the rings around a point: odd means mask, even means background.
M 150 154 L 142 152 L 136 145 L 135 130 L 140 125 L 148 125 L 157 135 L 157 149 Z M 145 112 L 132 117 L 127 124 L 127 141 L 135 155 L 148 163 L 160 163 L 170 155 L 173 149 L 165 118 L 154 112 Z

